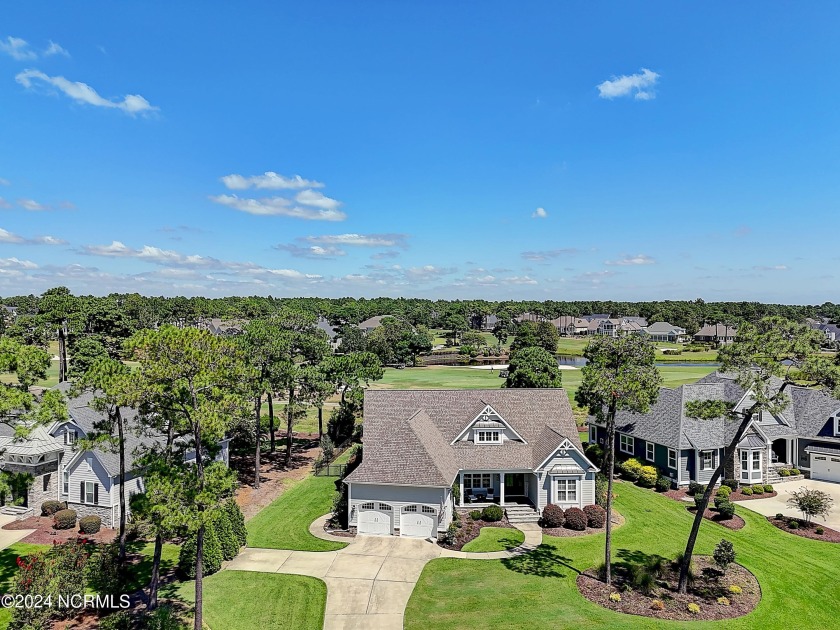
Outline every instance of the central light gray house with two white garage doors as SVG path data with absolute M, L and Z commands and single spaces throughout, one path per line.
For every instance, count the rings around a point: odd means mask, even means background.
M 595 502 L 562 389 L 367 390 L 364 407 L 364 459 L 345 479 L 359 533 L 435 538 L 455 507 L 536 520 L 548 503 Z

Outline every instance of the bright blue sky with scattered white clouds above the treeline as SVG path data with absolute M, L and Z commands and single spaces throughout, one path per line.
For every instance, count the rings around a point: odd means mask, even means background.
M 837 301 L 838 24 L 7 4 L 0 295 Z

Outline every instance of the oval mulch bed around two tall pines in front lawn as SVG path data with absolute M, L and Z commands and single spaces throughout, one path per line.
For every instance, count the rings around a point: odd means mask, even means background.
M 628 558 L 628 561 L 633 559 Z M 639 558 L 644 560 L 644 558 Z M 694 563 L 697 579 L 689 587 L 688 593 L 677 593 L 679 567 L 666 563 L 651 595 L 644 595 L 638 591 L 628 590 L 627 562 L 613 564 L 613 584 L 608 586 L 598 579 L 596 570 L 588 569 L 577 579 L 578 590 L 589 601 L 628 615 L 640 615 L 655 619 L 670 619 L 675 621 L 734 619 L 751 612 L 761 600 L 761 587 L 755 576 L 739 564 L 733 564 L 722 575 L 714 567 L 711 558 L 695 556 Z M 737 585 L 741 593 L 733 594 L 729 587 Z M 610 594 L 618 593 L 621 601 L 610 600 Z M 729 605 L 719 604 L 718 597 L 726 597 Z M 654 600 L 664 604 L 663 610 L 652 608 Z M 700 612 L 688 611 L 688 604 L 700 606 Z

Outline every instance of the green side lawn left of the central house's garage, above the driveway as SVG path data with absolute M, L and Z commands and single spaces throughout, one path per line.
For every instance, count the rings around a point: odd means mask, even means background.
M 346 547 L 315 538 L 309 525 L 332 507 L 337 477 L 306 477 L 248 521 L 248 546 L 297 551 L 333 551 Z

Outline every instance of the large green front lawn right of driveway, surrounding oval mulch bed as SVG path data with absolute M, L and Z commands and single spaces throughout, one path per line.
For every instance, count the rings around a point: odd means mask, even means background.
M 626 524 L 615 531 L 616 556 L 641 551 L 673 557 L 685 545 L 692 515 L 685 506 L 629 484 L 616 488 Z M 787 534 L 738 506 L 747 522 L 738 532 L 704 522 L 697 551 L 710 554 L 727 538 L 737 560 L 758 578 L 762 601 L 746 617 L 724 623 L 676 623 L 614 613 L 584 599 L 575 579 L 603 558 L 603 535 L 545 537 L 536 551 L 510 560 L 439 559 L 424 569 L 405 617 L 409 630 L 447 628 L 763 628 L 835 627 L 840 546 Z M 457 593 L 457 597 L 453 596 Z M 488 594 L 492 605 L 488 606 Z

